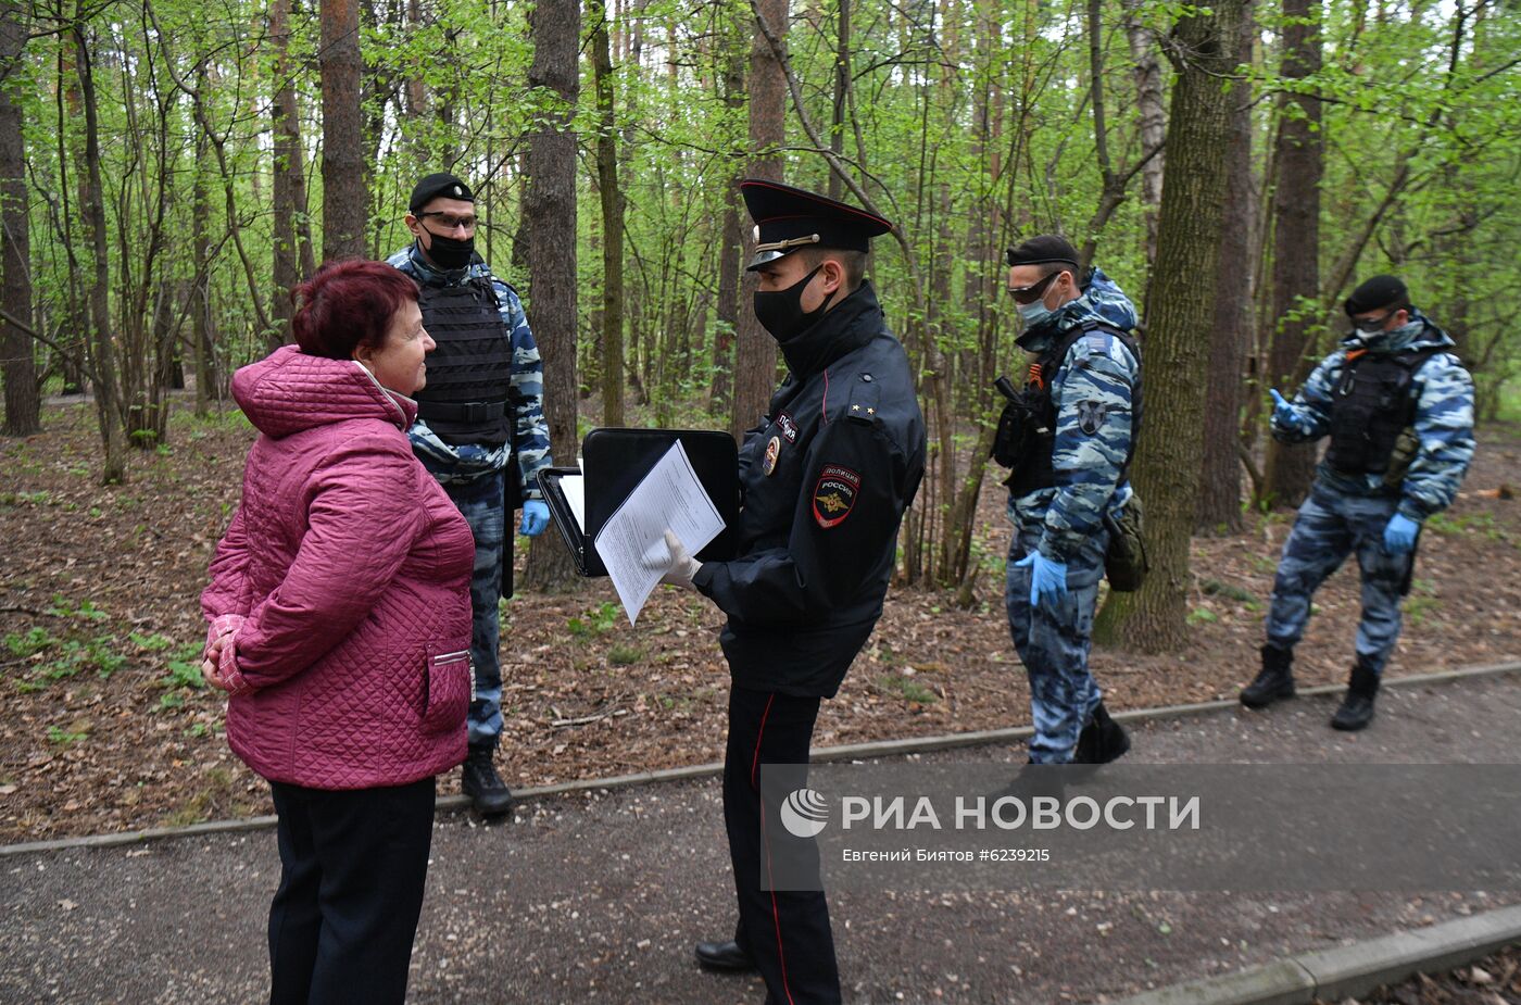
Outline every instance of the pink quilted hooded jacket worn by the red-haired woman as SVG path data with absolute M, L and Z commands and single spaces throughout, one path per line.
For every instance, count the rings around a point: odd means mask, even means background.
M 294 345 L 239 369 L 233 397 L 262 436 L 201 594 L 210 639 L 231 642 L 228 743 L 260 775 L 318 789 L 453 768 L 475 541 L 412 456 L 415 403 Z

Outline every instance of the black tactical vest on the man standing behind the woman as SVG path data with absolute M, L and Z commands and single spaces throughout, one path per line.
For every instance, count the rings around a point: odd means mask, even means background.
M 418 307 L 423 327 L 438 344 L 427 354 L 427 386 L 417 394 L 418 417 L 450 445 L 508 442 L 513 342 L 502 328 L 491 281 L 423 286 Z

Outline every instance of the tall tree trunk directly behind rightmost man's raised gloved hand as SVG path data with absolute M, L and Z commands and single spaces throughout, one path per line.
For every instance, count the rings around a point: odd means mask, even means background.
M 1320 71 L 1320 0 L 1284 0 L 1284 70 L 1293 87 Z M 1300 85 L 1302 87 L 1302 85 Z M 1310 374 L 1310 328 L 1320 321 L 1320 176 L 1325 132 L 1320 99 L 1285 96 L 1278 117 L 1273 185 L 1273 334 L 1269 386 L 1293 397 Z M 1264 488 L 1278 505 L 1299 505 L 1314 479 L 1316 445 L 1270 439 Z M 1261 502 L 1261 500 L 1259 500 Z

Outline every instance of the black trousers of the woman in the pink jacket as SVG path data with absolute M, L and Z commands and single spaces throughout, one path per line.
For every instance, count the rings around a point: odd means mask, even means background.
M 400 1005 L 433 841 L 433 778 L 269 788 L 280 815 L 271 1005 Z

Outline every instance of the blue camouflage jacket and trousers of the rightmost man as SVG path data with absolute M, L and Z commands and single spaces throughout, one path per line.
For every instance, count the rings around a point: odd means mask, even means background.
M 1453 339 L 1411 309 L 1410 322 L 1367 348 L 1370 354 L 1451 347 Z M 1281 442 L 1310 442 L 1331 432 L 1331 395 L 1342 380 L 1348 351 L 1357 338 L 1328 356 L 1291 401 L 1293 420 L 1275 415 L 1273 436 Z M 1357 552 L 1363 575 L 1363 619 L 1357 629 L 1358 663 L 1383 674 L 1399 639 L 1399 598 L 1410 576 L 1415 552 L 1390 555 L 1384 528 L 1396 514 L 1422 523 L 1446 509 L 1474 458 L 1474 382 L 1453 353 L 1436 353 L 1410 382 L 1415 401 L 1415 436 L 1419 445 L 1401 480 L 1384 474 L 1348 474 L 1325 461 L 1316 470 L 1310 497 L 1299 508 L 1294 528 L 1273 581 L 1267 642 L 1293 649 L 1310 620 L 1310 599 L 1346 556 Z

